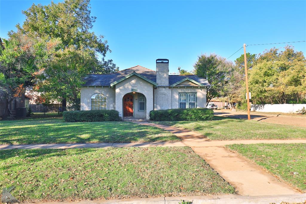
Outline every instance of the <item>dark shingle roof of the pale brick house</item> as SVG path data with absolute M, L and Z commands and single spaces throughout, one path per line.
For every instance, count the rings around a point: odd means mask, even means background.
M 122 77 L 125 77 L 134 71 L 137 74 L 140 74 L 141 76 L 156 82 L 156 72 L 154 70 L 150 70 L 143 66 L 137 65 L 129 69 L 115 72 L 113 74 L 89 74 L 88 76 L 84 77 L 85 84 L 83 86 L 110 86 L 111 83 L 118 81 Z M 210 85 L 205 78 L 201 78 L 196 75 L 169 75 L 169 85 L 181 81 L 186 77 L 189 77 L 203 85 Z

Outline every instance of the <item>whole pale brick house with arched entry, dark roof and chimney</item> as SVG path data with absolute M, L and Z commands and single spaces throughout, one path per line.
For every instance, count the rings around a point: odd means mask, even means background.
M 157 59 L 156 72 L 134 66 L 113 74 L 89 74 L 81 88 L 81 110 L 117 110 L 123 117 L 147 118 L 151 110 L 205 108 L 205 78 L 169 75 L 169 60 Z

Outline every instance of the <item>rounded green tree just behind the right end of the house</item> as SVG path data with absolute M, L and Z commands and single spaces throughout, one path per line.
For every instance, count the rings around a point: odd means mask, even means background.
M 223 96 L 230 80 L 233 63 L 216 54 L 200 55 L 194 65 L 194 73 L 204 77 L 211 84 L 206 87 L 206 103 L 217 96 Z

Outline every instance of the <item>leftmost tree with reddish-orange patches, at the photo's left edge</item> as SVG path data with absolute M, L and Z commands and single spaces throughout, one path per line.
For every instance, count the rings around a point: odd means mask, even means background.
M 54 51 L 40 38 L 33 39 L 21 32 L 9 33 L 9 39 L 1 40 L 0 48 L 0 100 L 4 101 L 3 117 L 10 115 L 8 104 L 14 97 L 24 102 L 26 89 L 36 82 L 39 67 Z

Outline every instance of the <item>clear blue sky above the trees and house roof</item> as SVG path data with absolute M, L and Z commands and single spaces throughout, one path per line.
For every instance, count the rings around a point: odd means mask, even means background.
M 58 1 L 54 1 L 58 2 Z M 21 10 L 50 1 L 0 0 L 0 36 L 24 21 Z M 155 59 L 169 59 L 192 70 L 201 53 L 229 57 L 243 43 L 278 43 L 306 40 L 306 1 L 91 1 L 97 17 L 93 31 L 104 35 L 121 69 L 135 65 L 155 70 Z M 306 43 L 292 43 L 306 53 Z M 284 47 L 285 44 L 275 45 Z M 274 45 L 249 46 L 261 53 Z M 235 60 L 243 49 L 233 55 Z

